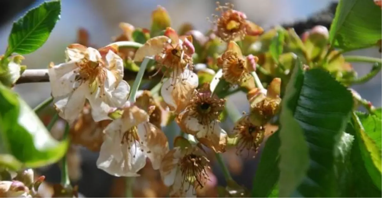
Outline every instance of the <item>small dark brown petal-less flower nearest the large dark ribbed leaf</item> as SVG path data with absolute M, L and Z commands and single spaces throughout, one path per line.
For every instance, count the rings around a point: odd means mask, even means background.
M 235 138 L 237 138 L 236 154 L 241 154 L 244 149 L 253 150 L 257 153 L 260 144 L 264 140 L 265 129 L 263 126 L 256 126 L 251 122 L 250 115 L 245 114 L 235 123 L 233 128 Z

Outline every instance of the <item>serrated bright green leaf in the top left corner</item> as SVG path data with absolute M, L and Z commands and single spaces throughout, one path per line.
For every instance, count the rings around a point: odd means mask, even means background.
M 12 53 L 29 54 L 40 48 L 60 19 L 60 12 L 60 1 L 44 2 L 13 23 L 6 56 Z

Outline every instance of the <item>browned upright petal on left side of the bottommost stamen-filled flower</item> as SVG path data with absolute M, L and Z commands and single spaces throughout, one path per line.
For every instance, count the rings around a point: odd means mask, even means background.
M 170 150 L 162 159 L 159 172 L 162 176 L 163 183 L 166 186 L 171 186 L 175 181 L 175 174 L 178 171 L 178 162 L 181 157 L 180 147 L 175 147 Z

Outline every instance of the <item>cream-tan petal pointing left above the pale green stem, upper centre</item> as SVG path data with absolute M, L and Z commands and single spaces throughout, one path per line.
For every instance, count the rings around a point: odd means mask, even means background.
M 142 47 L 136 51 L 134 61 L 141 62 L 146 56 L 151 57 L 161 53 L 167 41 L 168 37 L 166 36 L 150 38 Z

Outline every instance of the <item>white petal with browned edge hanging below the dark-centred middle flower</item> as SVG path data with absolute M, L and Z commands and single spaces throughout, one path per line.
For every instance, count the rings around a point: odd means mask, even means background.
M 209 127 L 200 130 L 196 134 L 196 139 L 216 153 L 225 152 L 227 133 L 219 126 L 218 121 L 212 121 Z

